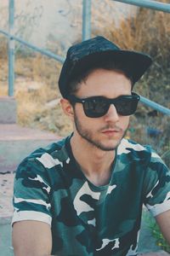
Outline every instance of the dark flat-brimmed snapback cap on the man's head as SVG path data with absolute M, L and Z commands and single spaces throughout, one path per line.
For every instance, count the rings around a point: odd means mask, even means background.
M 59 75 L 59 90 L 64 98 L 68 95 L 68 86 L 72 79 L 90 67 L 99 67 L 101 61 L 120 63 L 122 71 L 135 84 L 150 67 L 150 55 L 133 50 L 120 49 L 104 37 L 91 38 L 75 44 L 68 49 L 65 62 Z M 121 68 L 120 68 L 121 69 Z

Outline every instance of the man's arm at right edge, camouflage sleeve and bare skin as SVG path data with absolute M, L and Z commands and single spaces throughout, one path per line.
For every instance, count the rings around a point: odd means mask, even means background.
M 151 154 L 144 177 L 144 204 L 170 244 L 170 170 L 156 154 Z

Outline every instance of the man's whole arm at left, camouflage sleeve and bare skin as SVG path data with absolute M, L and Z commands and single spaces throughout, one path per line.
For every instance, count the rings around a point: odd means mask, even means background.
M 51 254 L 50 183 L 35 158 L 24 160 L 14 179 L 13 246 L 15 256 Z

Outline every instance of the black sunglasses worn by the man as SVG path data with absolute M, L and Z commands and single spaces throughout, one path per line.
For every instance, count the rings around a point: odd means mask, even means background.
M 111 104 L 116 108 L 116 112 L 120 115 L 131 115 L 136 111 L 140 96 L 134 92 L 132 95 L 118 96 L 114 99 L 108 99 L 104 96 L 92 96 L 87 98 L 77 98 L 71 95 L 68 100 L 71 104 L 82 103 L 84 113 L 90 118 L 99 118 L 108 112 Z

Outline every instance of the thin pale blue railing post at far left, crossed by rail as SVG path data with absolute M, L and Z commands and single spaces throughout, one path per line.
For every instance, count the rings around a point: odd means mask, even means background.
M 8 31 L 14 35 L 14 0 L 8 4 Z M 14 39 L 8 37 L 8 96 L 14 96 Z

